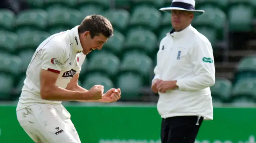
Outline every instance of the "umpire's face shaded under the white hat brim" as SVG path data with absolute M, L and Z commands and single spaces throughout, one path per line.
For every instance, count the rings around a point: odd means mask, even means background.
M 180 31 L 188 27 L 194 18 L 194 14 L 192 12 L 184 10 L 172 10 L 171 14 L 172 27 L 175 29 L 175 31 Z

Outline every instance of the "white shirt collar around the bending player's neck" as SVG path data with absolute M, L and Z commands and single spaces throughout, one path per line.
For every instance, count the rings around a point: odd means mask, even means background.
M 72 28 L 71 31 L 71 37 L 70 37 L 70 44 L 72 44 L 72 47 L 76 50 L 76 52 L 78 51 L 83 51 L 82 45 L 80 43 L 80 38 L 79 38 L 79 34 L 78 34 L 78 26 Z

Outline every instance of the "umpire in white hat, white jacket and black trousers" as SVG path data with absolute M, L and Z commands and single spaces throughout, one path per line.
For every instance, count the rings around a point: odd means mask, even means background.
M 194 143 L 203 120 L 213 119 L 210 86 L 215 83 L 214 57 L 209 40 L 190 24 L 194 0 L 172 0 L 172 31 L 160 42 L 152 90 L 159 94 L 162 143 Z

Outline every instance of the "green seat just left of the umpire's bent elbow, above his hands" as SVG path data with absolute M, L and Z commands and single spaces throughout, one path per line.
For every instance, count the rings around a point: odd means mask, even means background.
M 121 65 L 120 72 L 135 72 L 140 74 L 144 78 L 144 83 L 150 82 L 150 72 L 153 69 L 153 61 L 150 57 L 138 53 L 130 53 L 124 56 Z

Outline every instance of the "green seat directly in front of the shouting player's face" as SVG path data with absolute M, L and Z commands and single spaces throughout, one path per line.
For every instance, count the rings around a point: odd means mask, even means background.
M 120 55 L 122 51 L 122 47 L 124 44 L 125 37 L 122 33 L 114 30 L 114 35 L 108 39 L 108 41 L 104 44 L 103 49 L 107 49 L 115 53 L 116 55 Z

